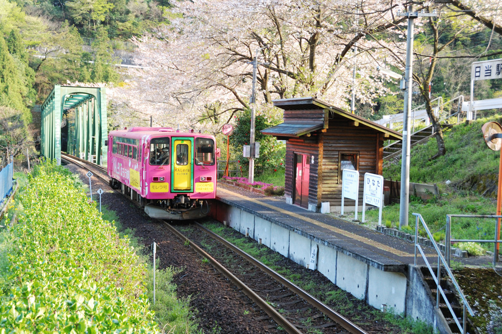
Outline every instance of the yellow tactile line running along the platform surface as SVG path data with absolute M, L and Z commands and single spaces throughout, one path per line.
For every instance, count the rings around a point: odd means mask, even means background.
M 324 223 L 319 222 L 317 220 L 313 220 L 313 219 L 310 219 L 308 217 L 304 217 L 302 215 L 299 215 L 299 214 L 296 214 L 296 213 L 293 213 L 293 212 L 290 212 L 290 211 L 286 211 L 284 209 L 278 208 L 278 207 L 270 205 L 268 203 L 264 203 L 263 201 L 260 201 L 260 200 L 257 200 L 257 199 L 248 198 L 248 197 L 242 196 L 240 194 L 234 193 L 234 192 L 226 190 L 226 189 L 218 188 L 217 191 L 218 192 L 222 191 L 222 192 L 225 192 L 225 193 L 229 193 L 229 194 L 231 194 L 231 196 L 239 197 L 239 198 L 241 198 L 243 200 L 251 201 L 251 202 L 254 202 L 256 204 L 260 204 L 260 205 L 263 205 L 265 207 L 268 207 L 270 209 L 277 210 L 277 211 L 279 211 L 279 212 L 281 212 L 281 213 L 283 213 L 285 215 L 290 215 L 290 216 L 296 217 L 298 219 L 302 219 L 302 220 L 307 221 L 309 223 L 315 224 L 315 225 L 320 226 L 320 227 L 324 227 L 324 228 L 326 228 L 326 229 L 328 229 L 330 231 L 333 231 L 335 233 L 339 233 L 339 234 L 344 235 L 344 236 L 346 236 L 348 238 L 361 241 L 361 242 L 363 242 L 365 244 L 368 244 L 368 245 L 371 245 L 373 247 L 382 249 L 384 251 L 396 254 L 398 256 L 406 257 L 406 256 L 414 256 L 415 255 L 414 253 L 403 252 L 403 251 L 397 250 L 395 248 L 389 247 L 387 245 L 381 244 L 380 242 L 376 242 L 376 241 L 370 240 L 368 238 L 364 238 L 364 237 L 358 236 L 357 234 L 353 234 L 353 233 L 341 230 L 341 229 L 336 228 L 334 226 L 331 226 L 331 225 L 328 225 L 328 224 L 324 224 Z M 266 199 L 266 200 L 269 201 L 271 199 Z M 429 255 L 429 254 L 427 254 L 427 255 Z

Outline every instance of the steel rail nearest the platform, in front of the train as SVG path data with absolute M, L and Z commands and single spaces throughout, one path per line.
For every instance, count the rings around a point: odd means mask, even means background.
M 319 299 L 315 298 L 311 294 L 309 294 L 307 291 L 302 289 L 301 287 L 295 285 L 293 282 L 289 281 L 287 278 L 284 276 L 280 275 L 276 271 L 272 270 L 270 267 L 266 266 L 262 262 L 258 261 L 255 259 L 253 256 L 247 254 L 243 250 L 237 248 L 235 245 L 232 243 L 226 241 L 225 239 L 221 238 L 219 235 L 216 233 L 209 231 L 199 223 L 195 222 L 196 226 L 202 229 L 204 232 L 206 232 L 208 235 L 210 235 L 212 238 L 223 244 L 225 247 L 229 248 L 230 250 L 234 251 L 241 257 L 243 257 L 245 260 L 249 261 L 253 265 L 257 266 L 260 268 L 262 271 L 273 277 L 275 280 L 283 284 L 284 286 L 288 287 L 291 291 L 305 299 L 309 304 L 317 308 L 319 311 L 324 313 L 327 317 L 329 317 L 331 320 L 335 321 L 337 324 L 341 325 L 343 328 L 345 328 L 348 332 L 353 333 L 353 334 L 367 334 L 366 331 L 364 331 L 362 328 L 358 327 L 356 324 L 354 324 L 352 321 L 349 319 L 345 318 L 343 315 L 340 313 L 336 312 L 323 302 L 321 302 Z

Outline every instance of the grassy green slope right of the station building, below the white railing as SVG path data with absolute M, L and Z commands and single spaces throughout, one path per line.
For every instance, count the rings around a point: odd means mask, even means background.
M 419 213 L 437 241 L 444 240 L 446 215 L 494 215 L 499 152 L 484 143 L 481 126 L 487 121 L 502 120 L 500 116 L 481 118 L 470 124 L 458 124 L 445 132 L 446 154 L 436 159 L 434 138 L 411 150 L 410 182 L 435 183 L 439 196 L 424 201 L 410 194 L 409 225 L 404 229 L 414 233 L 415 217 Z M 400 181 L 401 160 L 386 162 L 384 177 Z M 399 227 L 400 205 L 384 207 L 382 224 Z M 378 210 L 367 212 L 369 221 L 378 221 Z M 374 225 L 374 223 L 372 223 Z M 424 231 L 419 231 L 424 235 Z M 495 224 L 492 219 L 455 218 L 452 239 L 493 240 Z M 472 254 L 493 250 L 492 244 L 462 243 L 456 245 Z

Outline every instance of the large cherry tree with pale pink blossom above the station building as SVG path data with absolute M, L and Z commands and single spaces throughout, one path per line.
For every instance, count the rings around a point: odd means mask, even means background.
M 396 13 L 406 5 L 375 0 L 179 2 L 170 25 L 136 41 L 148 68 L 134 70 L 134 80 L 117 94 L 127 108 L 143 110 L 159 124 L 217 129 L 249 107 L 250 62 L 258 57 L 259 112 L 268 110 L 264 106 L 273 99 L 301 96 L 347 107 L 354 65 L 357 97 L 369 103 L 387 92 L 382 84 L 387 79 L 375 69 L 385 63 L 388 49 L 402 50 L 404 33 L 398 24 L 404 19 Z

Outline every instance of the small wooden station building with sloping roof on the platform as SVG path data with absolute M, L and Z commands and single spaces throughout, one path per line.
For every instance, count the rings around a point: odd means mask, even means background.
M 262 130 L 286 140 L 286 202 L 319 212 L 341 208 L 342 170 L 359 171 L 359 204 L 364 173 L 382 175 L 384 140 L 402 140 L 401 133 L 348 113 L 312 97 L 275 100 L 284 122 Z M 354 206 L 345 200 L 346 209 Z

